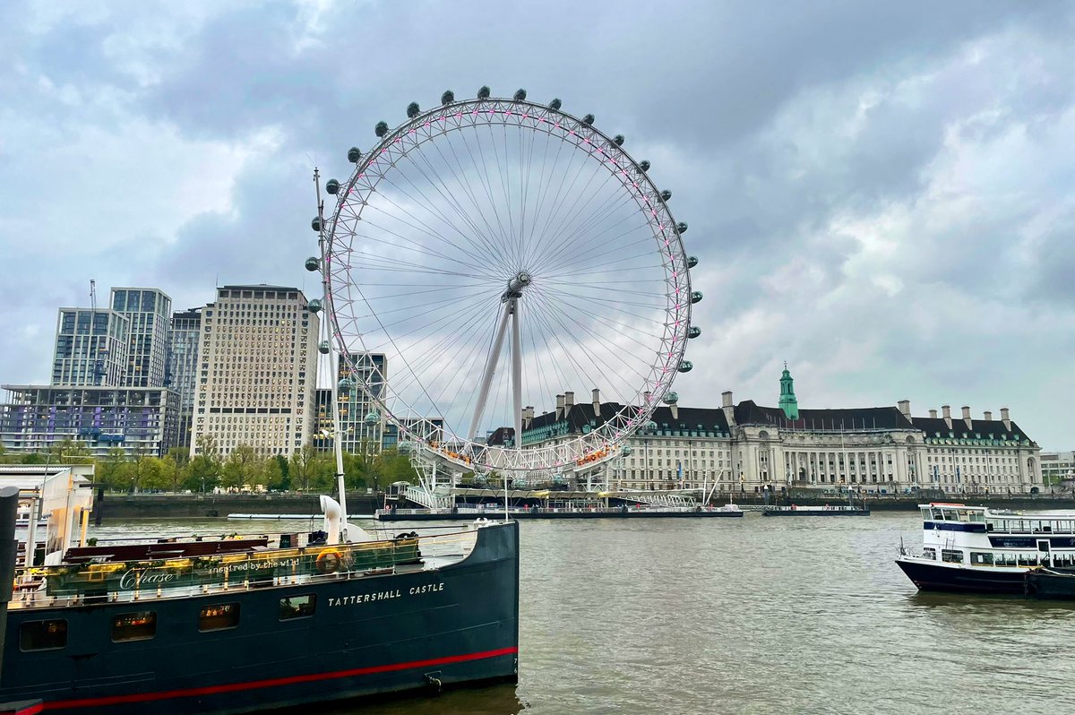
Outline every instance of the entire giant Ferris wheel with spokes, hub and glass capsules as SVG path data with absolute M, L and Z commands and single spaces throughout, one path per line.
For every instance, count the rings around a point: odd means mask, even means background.
M 671 191 L 558 99 L 482 87 L 406 115 L 348 152 L 355 168 L 327 182 L 335 205 L 314 221 L 307 268 L 355 387 L 401 440 L 462 469 L 613 456 L 674 395 L 701 332 Z M 570 392 L 598 409 L 557 413 Z

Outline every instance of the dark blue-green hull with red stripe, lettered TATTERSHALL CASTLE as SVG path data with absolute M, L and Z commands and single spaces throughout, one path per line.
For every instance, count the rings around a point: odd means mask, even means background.
M 316 597 L 281 620 L 282 599 Z M 207 605 L 234 603 L 236 627 L 199 632 Z M 113 643 L 112 619 L 156 613 L 156 635 Z M 68 644 L 22 652 L 28 620 L 66 619 Z M 462 683 L 514 681 L 518 525 L 478 531 L 471 555 L 316 584 L 137 603 L 11 609 L 0 701 L 41 699 L 58 713 L 246 713 Z

